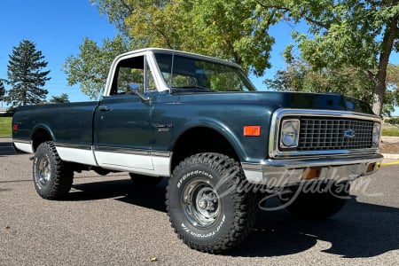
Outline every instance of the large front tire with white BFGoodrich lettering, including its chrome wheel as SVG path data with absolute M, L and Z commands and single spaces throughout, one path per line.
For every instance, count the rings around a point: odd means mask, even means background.
M 237 246 L 253 228 L 253 193 L 239 163 L 219 153 L 200 153 L 183 160 L 167 188 L 167 210 L 178 237 L 188 246 L 221 253 Z

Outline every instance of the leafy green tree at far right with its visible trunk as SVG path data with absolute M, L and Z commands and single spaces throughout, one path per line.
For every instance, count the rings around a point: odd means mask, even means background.
M 397 0 L 259 0 L 265 10 L 306 21 L 309 35 L 293 33 L 303 59 L 317 68 L 353 66 L 372 81 L 374 113 L 381 113 L 387 65 L 399 50 Z M 288 47 L 291 50 L 293 47 Z

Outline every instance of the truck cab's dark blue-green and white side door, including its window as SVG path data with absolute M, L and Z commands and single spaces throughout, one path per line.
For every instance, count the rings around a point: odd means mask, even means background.
M 154 94 L 145 55 L 121 60 L 115 69 L 111 95 L 100 101 L 95 113 L 94 153 L 103 168 L 153 170 L 153 100 L 143 100 L 132 88 L 150 98 Z

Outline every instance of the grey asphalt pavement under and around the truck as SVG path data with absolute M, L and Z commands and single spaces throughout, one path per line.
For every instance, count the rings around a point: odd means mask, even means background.
M 165 209 L 166 180 L 144 189 L 125 173 L 77 173 L 65 200 L 41 199 L 29 154 L 0 139 L 0 265 L 398 265 L 399 164 L 384 160 L 352 184 L 325 222 L 259 210 L 254 230 L 226 254 L 185 246 Z

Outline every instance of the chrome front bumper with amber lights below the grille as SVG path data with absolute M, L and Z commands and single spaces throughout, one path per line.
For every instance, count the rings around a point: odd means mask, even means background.
M 351 156 L 328 156 L 312 159 L 262 160 L 242 163 L 246 179 L 251 184 L 283 187 L 309 180 L 344 182 L 375 173 L 383 156 L 379 153 Z

